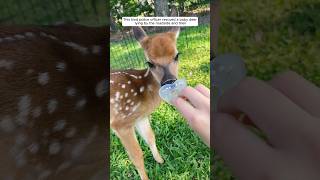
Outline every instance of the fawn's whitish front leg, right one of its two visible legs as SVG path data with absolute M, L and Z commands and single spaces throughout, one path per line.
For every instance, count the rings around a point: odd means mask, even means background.
M 155 135 L 150 126 L 150 121 L 148 117 L 139 119 L 136 122 L 136 129 L 144 141 L 149 145 L 152 152 L 153 158 L 160 164 L 163 163 L 163 159 L 158 151 Z

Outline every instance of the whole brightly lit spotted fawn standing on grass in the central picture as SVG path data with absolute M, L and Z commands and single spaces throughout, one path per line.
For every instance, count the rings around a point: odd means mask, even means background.
M 133 27 L 149 67 L 144 70 L 113 71 L 110 76 L 110 126 L 143 180 L 148 176 L 135 128 L 149 145 L 154 159 L 163 163 L 149 116 L 160 105 L 160 86 L 177 79 L 179 53 L 176 40 L 179 31 L 180 28 L 174 27 L 169 32 L 147 36 L 141 27 Z

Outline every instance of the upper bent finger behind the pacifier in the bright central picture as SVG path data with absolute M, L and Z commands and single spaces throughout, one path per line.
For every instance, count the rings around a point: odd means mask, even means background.
M 179 96 L 186 97 L 190 103 L 195 107 L 203 107 L 204 102 L 208 101 L 207 98 L 194 88 L 184 88 Z

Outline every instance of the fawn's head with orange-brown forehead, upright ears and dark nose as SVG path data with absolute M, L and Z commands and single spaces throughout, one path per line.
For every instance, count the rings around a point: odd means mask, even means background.
M 141 27 L 133 27 L 134 36 L 144 49 L 150 71 L 161 85 L 177 80 L 179 52 L 176 41 L 179 32 L 179 27 L 173 27 L 168 32 L 148 36 Z

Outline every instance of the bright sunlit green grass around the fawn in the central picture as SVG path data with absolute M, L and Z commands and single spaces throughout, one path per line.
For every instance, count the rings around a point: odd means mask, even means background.
M 186 31 L 182 31 L 178 39 L 178 50 L 181 52 L 179 75 L 185 77 L 191 86 L 202 83 L 209 87 L 209 26 L 190 28 Z M 184 33 L 188 33 L 188 39 Z M 121 48 L 120 43 L 116 45 L 118 50 Z M 121 60 L 111 59 L 111 63 Z M 209 179 L 209 148 L 193 133 L 172 106 L 163 103 L 152 114 L 151 126 L 165 162 L 162 165 L 157 164 L 147 145 L 138 136 L 150 179 Z M 119 139 L 113 133 L 111 139 L 111 179 L 139 179 Z

